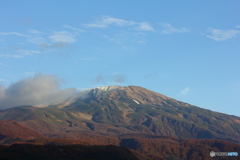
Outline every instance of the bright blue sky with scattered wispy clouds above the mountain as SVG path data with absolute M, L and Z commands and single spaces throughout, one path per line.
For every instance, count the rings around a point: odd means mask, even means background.
M 237 0 L 0 1 L 0 101 L 21 99 L 22 90 L 43 93 L 42 86 L 66 94 L 137 85 L 240 116 L 239 6 Z

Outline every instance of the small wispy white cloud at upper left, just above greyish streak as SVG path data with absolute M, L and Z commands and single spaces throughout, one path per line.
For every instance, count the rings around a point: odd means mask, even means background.
M 65 42 L 65 43 L 74 43 L 76 39 L 74 35 L 68 31 L 53 32 L 53 35 L 49 36 L 53 42 Z

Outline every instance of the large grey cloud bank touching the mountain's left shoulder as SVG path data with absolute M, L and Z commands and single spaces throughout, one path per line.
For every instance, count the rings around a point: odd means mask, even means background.
M 61 102 L 73 96 L 75 92 L 74 88 L 61 90 L 59 81 L 53 75 L 36 74 L 8 87 L 0 85 L 0 109 Z

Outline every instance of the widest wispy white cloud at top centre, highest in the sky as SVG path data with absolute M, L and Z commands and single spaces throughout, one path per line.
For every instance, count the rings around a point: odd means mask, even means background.
M 89 28 L 105 28 L 109 25 L 116 25 L 119 27 L 123 27 L 123 26 L 130 26 L 130 25 L 135 25 L 136 23 L 133 21 L 127 21 L 124 19 L 117 19 L 117 18 L 113 18 L 110 16 L 101 16 L 100 20 L 95 21 L 94 23 L 88 23 L 88 24 L 84 24 L 85 27 L 89 27 Z

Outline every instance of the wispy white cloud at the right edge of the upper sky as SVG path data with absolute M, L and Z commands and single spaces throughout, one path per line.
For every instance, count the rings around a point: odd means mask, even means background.
M 211 35 L 206 35 L 206 37 L 215 41 L 224 41 L 240 34 L 240 31 L 238 30 L 209 29 L 209 32 L 211 32 Z

